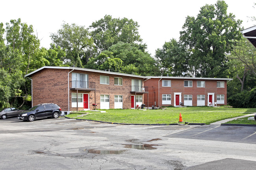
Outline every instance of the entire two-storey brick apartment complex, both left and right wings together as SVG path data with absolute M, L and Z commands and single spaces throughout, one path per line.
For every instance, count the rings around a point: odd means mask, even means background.
M 73 67 L 44 66 L 32 79 L 32 106 L 58 104 L 63 114 L 76 110 L 159 106 L 226 105 L 232 79 L 146 77 Z

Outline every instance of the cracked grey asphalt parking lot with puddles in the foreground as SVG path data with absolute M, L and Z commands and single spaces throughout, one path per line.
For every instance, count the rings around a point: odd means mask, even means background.
M 0 119 L 0 170 L 254 170 L 255 133 L 255 126 Z

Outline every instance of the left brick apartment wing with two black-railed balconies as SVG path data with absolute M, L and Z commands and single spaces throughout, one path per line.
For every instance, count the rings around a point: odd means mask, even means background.
M 32 106 L 55 103 L 64 114 L 76 110 L 131 109 L 144 103 L 149 77 L 73 67 L 44 66 L 32 79 Z

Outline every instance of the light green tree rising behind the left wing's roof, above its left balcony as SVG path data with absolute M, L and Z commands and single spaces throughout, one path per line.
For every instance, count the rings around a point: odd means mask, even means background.
M 84 26 L 69 25 L 64 22 L 61 29 L 57 33 L 51 33 L 50 37 L 56 46 L 60 46 L 65 51 L 66 57 L 62 58 L 64 64 L 83 67 L 81 59 L 86 58 L 85 64 L 88 62 L 90 56 L 85 57 L 85 54 L 87 50 L 92 49 L 93 40 Z

